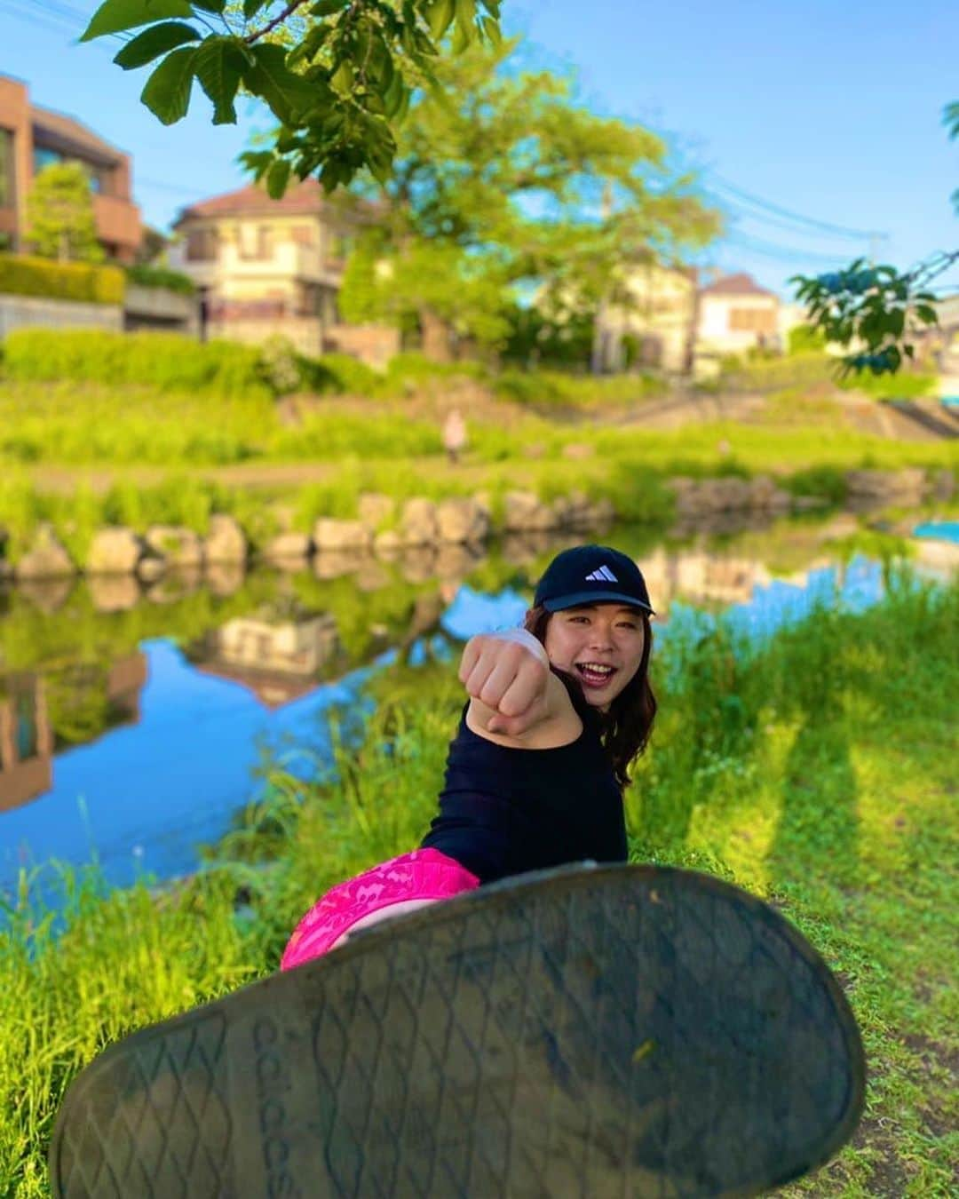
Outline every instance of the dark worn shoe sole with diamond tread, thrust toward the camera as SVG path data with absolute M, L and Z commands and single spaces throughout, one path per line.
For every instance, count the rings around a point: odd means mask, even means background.
M 852 1013 L 782 916 L 670 868 L 456 897 L 144 1029 L 71 1086 L 55 1199 L 687 1199 L 827 1161 Z

